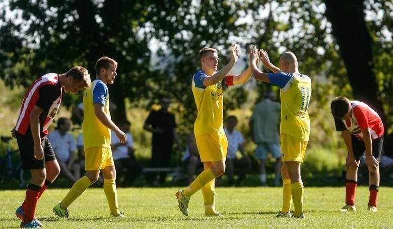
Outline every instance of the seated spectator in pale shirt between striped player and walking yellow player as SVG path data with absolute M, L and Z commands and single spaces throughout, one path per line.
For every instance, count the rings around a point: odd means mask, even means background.
M 74 160 L 77 146 L 75 138 L 69 132 L 71 127 L 70 120 L 59 118 L 57 128 L 48 134 L 48 139 L 60 165 L 61 174 L 76 182 L 81 177 L 80 164 Z

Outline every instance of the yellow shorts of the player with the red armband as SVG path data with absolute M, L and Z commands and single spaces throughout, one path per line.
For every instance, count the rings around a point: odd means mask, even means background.
M 195 137 L 201 162 L 225 161 L 228 140 L 225 132 L 202 134 Z

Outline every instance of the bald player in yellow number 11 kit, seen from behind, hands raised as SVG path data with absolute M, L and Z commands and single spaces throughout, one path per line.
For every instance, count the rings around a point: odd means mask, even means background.
M 265 73 L 256 66 L 261 56 L 262 63 L 274 73 Z M 293 217 L 304 218 L 303 182 L 300 165 L 303 162 L 310 136 L 310 119 L 307 108 L 311 96 L 311 80 L 299 73 L 295 54 L 285 52 L 280 57 L 280 68 L 273 65 L 268 53 L 255 45 L 250 48 L 250 67 L 254 78 L 280 87 L 282 152 L 281 176 L 283 178 L 283 208 L 278 217 L 291 217 L 291 200 L 295 206 Z

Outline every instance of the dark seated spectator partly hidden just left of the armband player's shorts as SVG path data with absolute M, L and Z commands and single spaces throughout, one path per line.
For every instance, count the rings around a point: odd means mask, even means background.
M 191 182 L 195 179 L 194 177 L 197 174 L 197 169 L 203 168 L 203 163 L 199 157 L 197 142 L 195 141 L 193 131 L 187 137 L 187 146 L 185 148 L 182 161 L 186 165 L 187 184 L 191 184 Z

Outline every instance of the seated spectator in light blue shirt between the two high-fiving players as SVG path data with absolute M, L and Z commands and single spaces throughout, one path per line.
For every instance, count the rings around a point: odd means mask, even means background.
M 243 180 L 251 167 L 251 160 L 244 153 L 244 138 L 240 131 L 235 130 L 237 125 L 237 118 L 235 116 L 228 116 L 226 119 L 226 126 L 224 127 L 225 135 L 228 139 L 227 159 L 225 161 L 225 174 L 228 176 L 229 186 L 242 186 Z M 240 152 L 242 158 L 236 157 L 237 151 Z M 234 169 L 239 170 L 239 177 L 235 184 Z

